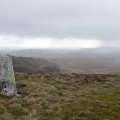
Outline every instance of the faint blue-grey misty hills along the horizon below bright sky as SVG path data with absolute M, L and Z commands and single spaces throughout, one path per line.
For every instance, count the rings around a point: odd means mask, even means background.
M 33 57 L 42 59 L 71 59 L 71 58 L 118 58 L 120 59 L 119 48 L 88 48 L 76 50 L 64 49 L 28 49 L 11 50 L 7 53 L 17 57 Z

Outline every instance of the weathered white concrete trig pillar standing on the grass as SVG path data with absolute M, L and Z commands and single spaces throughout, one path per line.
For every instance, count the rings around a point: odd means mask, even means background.
M 0 93 L 6 96 L 17 95 L 12 58 L 5 54 L 0 54 Z

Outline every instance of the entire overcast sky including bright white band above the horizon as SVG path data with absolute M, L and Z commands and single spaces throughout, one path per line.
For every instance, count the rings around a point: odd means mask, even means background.
M 120 0 L 0 0 L 0 47 L 120 47 Z

